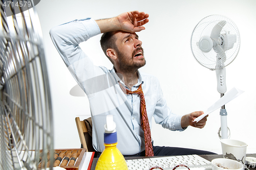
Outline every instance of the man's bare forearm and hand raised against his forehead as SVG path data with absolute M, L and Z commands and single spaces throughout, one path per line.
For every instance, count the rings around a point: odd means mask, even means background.
M 117 30 L 134 33 L 145 30 L 143 26 L 149 21 L 148 16 L 145 12 L 132 11 L 113 18 L 96 20 L 96 23 L 101 33 Z

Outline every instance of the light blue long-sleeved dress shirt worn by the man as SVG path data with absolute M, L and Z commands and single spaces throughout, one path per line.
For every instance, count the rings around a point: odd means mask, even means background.
M 91 18 L 74 20 L 54 27 L 50 31 L 61 58 L 88 96 L 94 149 L 98 152 L 104 150 L 103 126 L 106 115 L 113 114 L 118 139 L 117 148 L 123 155 L 135 155 L 145 150 L 144 132 L 140 126 L 139 95 L 125 94 L 118 81 L 123 85 L 124 83 L 120 76 L 117 76 L 115 69 L 95 66 L 79 47 L 79 43 L 98 34 L 100 29 Z M 150 127 L 152 128 L 152 117 L 154 117 L 155 122 L 163 128 L 183 131 L 182 116 L 172 113 L 167 107 L 158 79 L 138 71 L 138 83 L 131 90 L 137 90 L 141 83 Z

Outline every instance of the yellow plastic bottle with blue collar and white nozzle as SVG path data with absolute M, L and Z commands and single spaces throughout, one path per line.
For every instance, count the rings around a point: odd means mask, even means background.
M 116 124 L 113 121 L 113 115 L 106 115 L 106 125 L 104 126 L 104 145 L 105 149 L 101 153 L 95 170 L 102 169 L 128 169 L 125 159 L 121 152 L 117 149 L 117 133 Z

